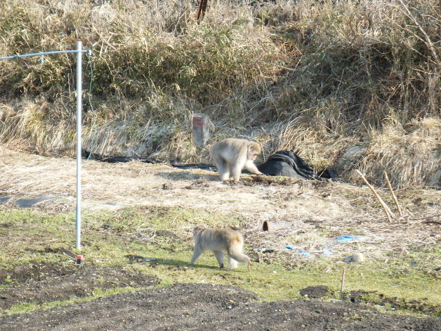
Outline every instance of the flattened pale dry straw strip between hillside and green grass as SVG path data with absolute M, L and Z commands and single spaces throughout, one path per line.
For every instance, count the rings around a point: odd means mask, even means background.
M 0 192 L 14 198 L 9 204 L 0 204 L 0 208 L 10 210 L 16 208 L 12 203 L 19 198 L 46 195 L 61 199 L 39 203 L 34 208 L 53 213 L 74 212 L 73 159 L 42 157 L 1 147 Z M 258 182 L 244 176 L 241 181 L 247 185 L 220 183 L 214 172 L 206 170 L 179 170 L 169 165 L 139 162 L 87 161 L 83 164 L 83 212 L 181 208 L 191 210 L 193 217 L 201 218 L 202 222 L 206 214 L 210 218 L 216 214 L 225 219 L 234 217 L 241 221 L 250 251 L 273 248 L 276 253 L 271 254 L 271 259 L 280 259 L 291 266 L 309 261 L 296 255 L 296 250 L 310 252 L 310 257 L 318 259 L 318 265 L 320 261 L 326 264 L 328 259 L 342 261 L 353 252 L 363 252 L 368 260 L 384 262 L 409 258 L 412 252 L 425 250 L 428 250 L 427 259 L 416 268 L 431 272 L 441 263 L 439 253 L 431 251 L 441 241 L 439 194 L 433 190 L 398 190 L 404 217 L 389 223 L 369 188 L 277 177 Z M 380 195 L 394 208 L 387 190 L 380 190 Z M 148 220 L 146 216 L 145 221 Z M 168 221 L 173 221 L 171 214 Z M 262 232 L 263 221 L 284 222 L 289 227 Z M 190 228 L 185 229 L 190 237 Z M 362 237 L 351 243 L 336 241 L 347 234 Z M 287 250 L 285 245 L 296 250 Z M 324 250 L 332 254 L 326 256 L 322 254 Z M 267 253 L 260 255 L 265 261 Z

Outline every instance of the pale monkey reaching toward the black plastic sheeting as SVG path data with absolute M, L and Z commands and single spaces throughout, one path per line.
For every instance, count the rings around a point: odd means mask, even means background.
M 215 143 L 209 152 L 218 167 L 221 181 L 227 181 L 229 177 L 233 177 L 234 181 L 238 182 L 240 172 L 244 168 L 254 174 L 263 174 L 253 163 L 261 152 L 258 143 L 229 138 Z

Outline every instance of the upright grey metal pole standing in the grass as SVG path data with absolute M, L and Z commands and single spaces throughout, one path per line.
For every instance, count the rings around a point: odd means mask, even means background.
M 81 250 L 81 113 L 83 108 L 83 67 L 81 41 L 76 41 L 76 249 Z

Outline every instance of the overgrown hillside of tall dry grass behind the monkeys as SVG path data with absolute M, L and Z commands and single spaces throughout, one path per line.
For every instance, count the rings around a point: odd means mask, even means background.
M 396 187 L 436 185 L 441 161 L 438 0 L 10 0 L 0 55 L 74 48 L 85 56 L 84 148 L 208 161 L 211 141 L 248 137 L 311 165 Z M 0 141 L 74 152 L 73 55 L 0 62 Z M 345 152 L 358 157 L 337 162 Z M 431 183 L 432 181 L 432 183 Z

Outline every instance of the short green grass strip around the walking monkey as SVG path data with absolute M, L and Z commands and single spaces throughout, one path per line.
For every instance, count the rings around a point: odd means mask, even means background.
M 220 270 L 213 254 L 205 252 L 196 265 L 189 266 L 187 263 L 192 255 L 192 226 L 201 223 L 202 219 L 208 225 L 240 225 L 240 219 L 182 208 L 129 208 L 118 212 L 87 213 L 84 215 L 81 253 L 85 256 L 85 263 L 133 263 L 131 268 L 158 277 L 160 286 L 174 283 L 238 285 L 256 292 L 262 301 L 300 299 L 302 297 L 299 290 L 314 285 L 325 285 L 337 293 L 340 290 L 342 268 L 346 268 L 345 290 L 375 293 L 369 294 L 371 297 L 367 297 L 366 302 L 378 303 L 380 299 L 384 301 L 385 297 L 396 298 L 389 305 L 391 309 L 411 312 L 415 312 L 416 307 L 423 307 L 424 312 L 433 312 L 433 306 L 441 305 L 440 279 L 431 277 L 420 268 L 411 268 L 412 264 L 409 262 L 416 259 L 422 261 L 427 252 L 413 252 L 411 260 L 396 259 L 393 263 L 369 261 L 347 264 L 319 257 L 306 261 L 298 268 L 287 268 L 283 263 L 276 262 L 280 260 L 269 259 L 262 263 L 254 261 L 251 272 L 247 272 L 245 265 L 240 265 L 237 270 Z M 0 267 L 11 272 L 15 266 L 26 265 L 30 261 L 65 263 L 70 258 L 60 248 L 74 252 L 74 217 L 70 214 L 3 210 L 0 212 L 0 227 L 0 235 L 5 243 Z M 8 230 L 8 236 L 5 229 Z M 33 236 L 30 237 L 29 233 L 33 233 Z M 38 241 L 34 240 L 35 236 Z M 14 245 L 11 241 L 15 239 L 19 239 L 21 244 Z M 52 241 L 53 239 L 58 240 Z M 249 245 L 247 243 L 247 248 Z M 437 248 L 431 250 L 431 254 L 439 253 Z M 153 260 L 134 263 L 130 256 Z M 327 268 L 329 266 L 331 268 Z M 5 283 L 7 287 L 8 283 Z M 130 290 L 134 289 L 116 288 L 103 292 L 96 290 L 92 296 L 84 299 L 73 298 L 43 305 L 23 303 L 6 313 L 52 308 Z M 333 294 L 332 297 L 338 295 Z M 424 305 L 411 305 L 411 301 L 422 302 Z

